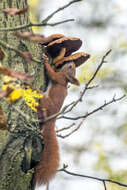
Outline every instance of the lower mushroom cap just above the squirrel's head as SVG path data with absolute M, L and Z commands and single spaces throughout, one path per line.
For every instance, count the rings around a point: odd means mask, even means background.
M 55 66 L 56 66 L 56 68 L 59 69 L 67 62 L 73 61 L 75 63 L 75 66 L 78 67 L 81 64 L 83 64 L 84 62 L 86 62 L 89 59 L 89 57 L 90 57 L 90 54 L 88 54 L 88 53 L 78 52 L 78 53 L 75 53 L 68 57 L 64 57 L 59 62 L 57 62 Z

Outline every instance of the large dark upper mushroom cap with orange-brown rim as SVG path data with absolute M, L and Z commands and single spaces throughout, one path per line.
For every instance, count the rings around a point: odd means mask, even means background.
M 82 45 L 82 41 L 79 38 L 63 37 L 48 44 L 47 52 L 52 58 L 59 55 L 62 48 L 66 48 L 65 57 L 71 55 L 74 51 L 77 51 Z

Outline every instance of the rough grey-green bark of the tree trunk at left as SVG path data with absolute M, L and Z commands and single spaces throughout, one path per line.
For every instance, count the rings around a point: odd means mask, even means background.
M 0 9 L 22 9 L 26 5 L 27 0 L 0 1 Z M 0 11 L 0 28 L 13 28 L 28 22 L 28 13 L 9 16 Z M 27 31 L 30 31 L 30 29 L 27 29 Z M 13 35 L 13 32 L 0 32 L 0 40 L 21 51 L 31 52 L 33 57 L 38 60 L 42 59 L 42 48 L 38 44 L 20 40 Z M 2 49 L 6 55 L 2 62 L 4 66 L 15 68 L 17 71 L 34 73 L 35 80 L 32 86 L 41 90 L 44 88 L 43 60 L 40 64 L 36 62 L 28 64 L 14 51 L 3 47 Z M 32 123 L 27 120 L 8 102 L 1 100 L 0 103 L 6 116 L 8 127 L 13 131 L 0 131 L 0 190 L 31 190 L 33 189 L 31 179 L 34 173 L 34 169 L 31 168 L 40 160 L 42 151 L 42 139 L 36 130 L 38 129 L 38 123 Z M 13 105 L 30 116 L 30 118 L 37 119 L 36 113 L 22 100 Z

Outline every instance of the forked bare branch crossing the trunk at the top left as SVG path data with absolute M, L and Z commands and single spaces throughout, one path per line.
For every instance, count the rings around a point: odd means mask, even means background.
M 73 0 L 73 1 L 70 1 L 68 4 L 64 5 L 63 7 L 60 7 L 58 8 L 56 11 L 54 11 L 53 13 L 51 13 L 49 16 L 47 16 L 44 20 L 41 21 L 41 23 L 37 23 L 37 24 L 34 24 L 34 23 L 28 23 L 28 24 L 24 24 L 24 25 L 21 25 L 21 26 L 17 26 L 15 28 L 0 28 L 0 32 L 2 31 L 17 31 L 17 30 L 21 30 L 21 29 L 26 29 L 26 28 L 29 28 L 29 27 L 33 27 L 33 26 L 56 26 L 58 24 L 63 24 L 65 22 L 70 22 L 70 21 L 74 21 L 74 19 L 67 19 L 67 20 L 64 20 L 64 21 L 60 21 L 60 22 L 56 22 L 56 23 L 48 23 L 48 21 L 58 12 L 64 10 L 65 8 L 69 7 L 71 4 L 73 3 L 76 3 L 76 2 L 79 2 L 79 1 L 82 1 L 82 0 Z

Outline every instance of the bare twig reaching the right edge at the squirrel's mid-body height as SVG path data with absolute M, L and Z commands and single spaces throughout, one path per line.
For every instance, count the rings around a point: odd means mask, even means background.
M 110 104 L 112 104 L 114 102 L 118 102 L 118 101 L 122 100 L 125 97 L 126 97 L 126 95 L 123 95 L 123 96 L 121 96 L 119 98 L 115 98 L 115 96 L 113 96 L 112 100 L 110 100 L 109 102 L 105 101 L 103 105 L 101 105 L 100 107 L 94 109 L 91 112 L 88 112 L 87 114 L 85 114 L 83 116 L 78 116 L 78 117 L 60 116 L 58 119 L 61 119 L 61 118 L 63 119 L 64 118 L 64 119 L 70 119 L 70 120 L 78 120 L 78 119 L 82 119 L 82 118 L 87 118 L 88 116 L 96 113 L 97 111 L 103 110 L 103 108 L 105 108 L 106 106 L 108 106 L 108 105 L 110 105 Z

